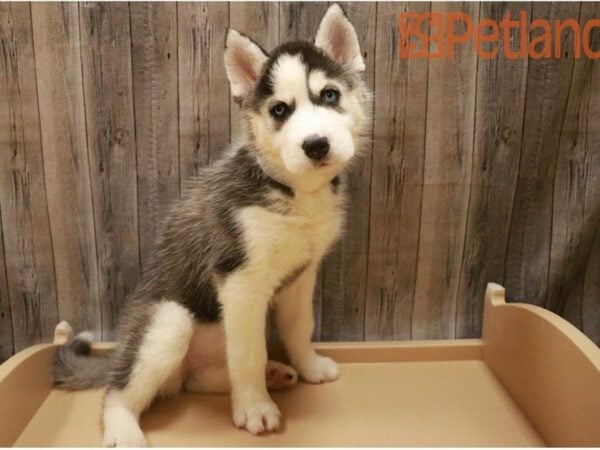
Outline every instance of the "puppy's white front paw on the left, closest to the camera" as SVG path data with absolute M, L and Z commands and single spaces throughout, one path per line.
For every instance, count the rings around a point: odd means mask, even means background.
M 233 401 L 233 423 L 252 434 L 277 430 L 280 418 L 279 408 L 268 396 L 258 401 Z

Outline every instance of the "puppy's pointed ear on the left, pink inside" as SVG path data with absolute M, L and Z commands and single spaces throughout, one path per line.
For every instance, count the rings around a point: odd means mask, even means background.
M 250 38 L 229 29 L 225 43 L 225 70 L 234 97 L 245 97 L 256 85 L 267 58 Z

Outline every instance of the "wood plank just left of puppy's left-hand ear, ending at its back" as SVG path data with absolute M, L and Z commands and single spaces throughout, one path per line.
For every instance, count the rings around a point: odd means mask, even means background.
M 181 181 L 229 145 L 229 89 L 223 50 L 229 5 L 179 3 L 179 154 Z

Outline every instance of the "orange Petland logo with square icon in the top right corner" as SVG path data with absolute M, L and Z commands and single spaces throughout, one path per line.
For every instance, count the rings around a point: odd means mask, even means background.
M 573 56 L 582 53 L 590 59 L 600 58 L 600 49 L 590 45 L 593 28 L 600 28 L 600 19 L 590 19 L 580 24 L 575 19 L 535 19 L 529 22 L 526 11 L 518 19 L 508 12 L 500 22 L 482 19 L 474 24 L 473 19 L 462 12 L 400 13 L 399 54 L 400 58 L 448 58 L 454 57 L 455 48 L 474 41 L 475 51 L 481 58 L 495 58 L 502 49 L 508 59 L 517 58 L 560 58 L 563 33 L 573 33 Z M 518 42 L 511 42 L 515 32 Z M 500 45 L 502 43 L 502 45 Z M 433 45 L 430 45 L 433 44 Z M 571 49 L 567 49 L 571 51 Z

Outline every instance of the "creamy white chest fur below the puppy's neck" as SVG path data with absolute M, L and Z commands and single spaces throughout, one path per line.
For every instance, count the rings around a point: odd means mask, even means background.
M 284 214 L 259 206 L 242 209 L 248 268 L 277 283 L 301 266 L 318 263 L 341 233 L 342 202 L 342 195 L 326 186 L 297 192 Z

